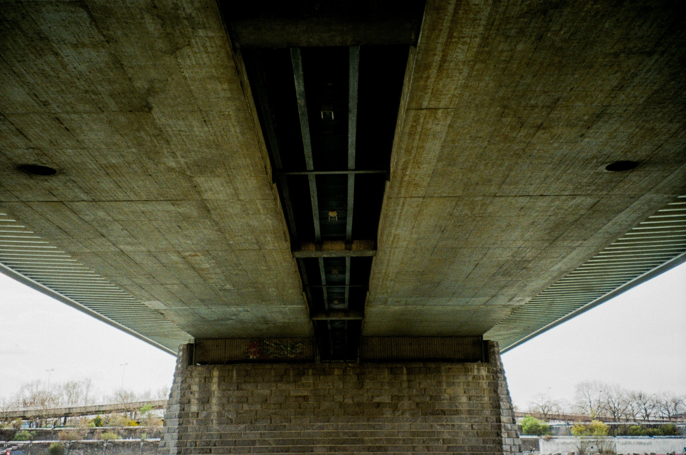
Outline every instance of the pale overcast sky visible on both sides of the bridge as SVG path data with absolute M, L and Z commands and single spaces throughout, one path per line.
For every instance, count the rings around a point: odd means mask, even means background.
M 0 330 L 0 397 L 48 376 L 89 377 L 103 394 L 122 384 L 153 394 L 171 386 L 172 355 L 2 274 Z M 685 353 L 682 264 L 512 349 L 503 362 L 514 404 L 525 409 L 536 393 L 571 400 L 583 380 L 686 394 Z

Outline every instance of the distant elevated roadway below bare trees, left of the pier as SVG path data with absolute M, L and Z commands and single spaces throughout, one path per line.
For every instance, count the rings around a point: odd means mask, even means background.
M 1 419 L 53 419 L 56 417 L 77 417 L 82 415 L 108 414 L 110 412 L 130 412 L 139 410 L 143 406 L 152 409 L 164 409 L 166 399 L 148 401 L 132 401 L 131 403 L 94 404 L 91 406 L 60 406 L 59 408 L 22 408 L 18 410 L 0 412 Z

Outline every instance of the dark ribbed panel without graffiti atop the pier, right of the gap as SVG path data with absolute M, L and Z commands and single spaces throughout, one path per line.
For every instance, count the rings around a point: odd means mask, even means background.
M 480 336 L 364 336 L 359 347 L 362 362 L 484 360 Z

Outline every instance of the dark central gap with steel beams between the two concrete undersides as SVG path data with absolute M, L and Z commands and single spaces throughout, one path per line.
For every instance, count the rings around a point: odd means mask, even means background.
M 418 12 L 417 17 L 421 19 L 421 12 Z M 262 23 L 262 19 L 256 23 Z M 298 27 L 296 29 L 291 31 L 301 37 L 302 30 L 298 31 Z M 310 32 L 311 30 L 307 33 Z M 265 33 L 271 34 L 272 38 L 285 39 L 274 30 Z M 375 33 L 386 39 L 387 31 Z M 351 36 L 357 34 L 352 33 Z M 257 32 L 253 38 L 262 39 L 263 33 Z M 273 181 L 279 189 L 279 198 L 283 201 L 283 211 L 292 237 L 292 257 L 298 263 L 303 283 L 302 292 L 309 304 L 320 353 L 322 359 L 341 362 L 356 358 L 357 337 L 361 334 L 364 322 L 364 294 L 369 285 L 351 284 L 352 264 L 355 263 L 356 267 L 354 282 L 368 283 L 370 259 L 376 255 L 377 248 L 375 230 L 370 228 L 376 226 L 379 202 L 383 198 L 384 187 L 379 178 L 388 178 L 386 161 L 392 146 L 389 141 L 395 128 L 392 117 L 395 116 L 394 104 L 401 95 L 404 68 L 401 64 L 406 62 L 407 49 L 399 46 L 383 49 L 367 47 L 369 43 L 364 40 L 342 43 L 344 47 L 339 49 L 331 49 L 331 43 L 326 40 L 322 43 L 322 47 L 313 47 L 303 40 L 290 40 L 284 42 L 283 46 L 276 46 L 280 49 L 255 43 L 252 43 L 255 46 L 248 46 L 249 49 L 242 43 L 241 47 L 244 47 L 255 101 L 259 104 L 257 108 L 264 140 L 272 160 Z M 365 47 L 364 62 L 359 60 L 360 46 Z M 292 67 L 288 67 L 289 63 Z M 383 77 L 380 73 L 384 73 Z M 294 78 L 293 86 L 290 85 L 290 77 Z M 364 98 L 368 92 L 372 94 L 370 103 L 366 103 Z M 375 122 L 378 124 L 367 128 L 368 121 L 365 119 L 373 122 L 375 115 L 383 116 L 383 119 L 379 118 L 383 121 Z M 303 155 L 300 155 L 297 148 L 298 127 Z M 371 140 L 368 145 L 374 149 L 369 151 L 370 156 L 360 154 L 359 170 L 358 135 L 361 146 L 364 145 L 363 142 Z M 386 137 L 386 143 L 383 143 L 381 137 Z M 296 147 L 295 150 L 292 150 L 292 145 Z M 317 156 L 317 170 L 314 155 Z M 357 174 L 366 175 L 356 178 Z M 304 186 L 305 176 L 308 187 Z M 359 203 L 356 204 L 357 190 Z M 311 202 L 309 211 L 308 193 Z M 366 202 L 370 202 L 369 205 Z M 357 217 L 353 218 L 353 215 Z M 309 231 L 309 220 L 313 222 L 313 231 Z M 356 228 L 354 232 L 353 224 Z M 300 235 L 298 237 L 296 226 Z M 364 235 L 363 231 L 369 235 Z M 360 239 L 360 235 L 364 235 L 366 239 Z M 302 236 L 305 237 L 299 238 Z M 352 257 L 359 259 L 353 261 Z M 364 257 L 368 259 L 363 259 Z M 316 270 L 315 259 L 319 272 Z M 320 278 L 314 277 L 317 273 Z M 309 277 L 310 274 L 313 276 Z M 69 281 L 64 277 L 60 279 Z M 329 279 L 331 283 L 327 283 Z M 97 285 L 97 282 L 94 283 Z M 89 298 L 104 299 L 99 294 Z M 329 347 L 326 346 L 327 338 Z

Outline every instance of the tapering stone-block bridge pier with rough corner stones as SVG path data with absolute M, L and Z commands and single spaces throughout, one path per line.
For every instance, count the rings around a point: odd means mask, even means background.
M 197 364 L 180 347 L 161 454 L 518 454 L 497 343 L 477 362 Z

